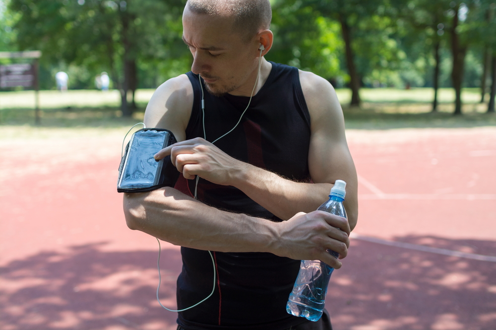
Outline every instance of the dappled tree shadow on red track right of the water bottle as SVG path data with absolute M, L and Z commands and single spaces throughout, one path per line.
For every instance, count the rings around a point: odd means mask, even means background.
M 395 241 L 496 256 L 496 241 L 435 236 Z M 496 263 L 352 240 L 326 308 L 335 329 L 496 329 Z

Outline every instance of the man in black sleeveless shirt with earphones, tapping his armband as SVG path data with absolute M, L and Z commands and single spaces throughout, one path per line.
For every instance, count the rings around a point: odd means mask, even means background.
M 178 309 L 208 296 L 217 274 L 213 295 L 180 312 L 178 329 L 331 329 L 326 313 L 309 322 L 287 314 L 286 301 L 299 260 L 341 267 L 326 249 L 346 257 L 357 176 L 332 86 L 263 58 L 270 19 L 268 0 L 188 0 L 191 72 L 162 84 L 146 108 L 146 126 L 179 141 L 155 158 L 170 154 L 182 175 L 175 189 L 125 194 L 127 225 L 182 246 Z M 338 179 L 348 222 L 314 211 Z

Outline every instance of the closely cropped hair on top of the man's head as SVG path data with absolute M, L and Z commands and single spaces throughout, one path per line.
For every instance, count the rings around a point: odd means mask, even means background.
M 248 42 L 260 30 L 270 27 L 269 0 L 187 0 L 186 8 L 196 14 L 233 19 L 233 29 Z

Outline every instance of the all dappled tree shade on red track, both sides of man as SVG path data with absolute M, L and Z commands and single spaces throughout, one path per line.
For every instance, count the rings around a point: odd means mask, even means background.
M 496 255 L 496 241 L 396 240 Z M 157 252 L 104 247 L 44 251 L 1 268 L 0 328 L 175 329 L 176 313 L 155 300 Z M 163 249 L 161 269 L 161 301 L 174 308 L 178 250 Z M 331 278 L 326 308 L 336 330 L 496 329 L 495 263 L 354 239 Z

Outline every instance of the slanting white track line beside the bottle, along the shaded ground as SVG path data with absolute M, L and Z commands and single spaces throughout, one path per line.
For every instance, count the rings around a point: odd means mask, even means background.
M 447 256 L 451 256 L 451 257 L 459 257 L 459 258 L 473 259 L 473 260 L 479 260 L 479 261 L 496 262 L 496 257 L 489 256 L 489 255 L 466 253 L 466 252 L 441 249 L 441 248 L 431 247 L 431 246 L 426 246 L 426 245 L 396 242 L 396 241 L 382 239 L 382 238 L 358 235 L 355 233 L 351 233 L 350 237 L 354 238 L 354 239 L 360 239 L 360 240 L 364 240 L 364 241 L 368 241 L 368 242 L 372 242 L 372 243 L 377 243 L 377 244 L 382 244 L 382 245 L 402 247 L 402 248 L 410 249 L 410 250 L 430 252 L 430 253 L 447 255 Z

